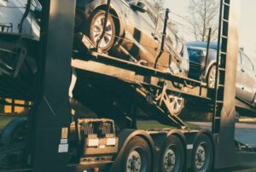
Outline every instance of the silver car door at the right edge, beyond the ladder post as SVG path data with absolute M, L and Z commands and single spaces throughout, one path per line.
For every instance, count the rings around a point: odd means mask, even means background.
M 243 100 L 247 100 L 249 103 L 253 103 L 253 99 L 256 92 L 256 79 L 254 73 L 253 63 L 246 54 L 241 52 L 241 89 Z

